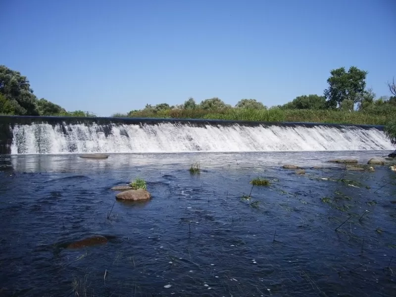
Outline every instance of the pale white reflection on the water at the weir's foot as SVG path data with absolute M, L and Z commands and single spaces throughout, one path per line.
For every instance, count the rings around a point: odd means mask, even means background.
M 85 159 L 77 154 L 0 155 L 0 168 L 12 167 L 19 172 L 76 172 L 123 170 L 136 166 L 170 166 L 185 168 L 199 162 L 201 167 L 278 166 L 293 162 L 299 166 L 326 165 L 332 158 L 356 158 L 367 162 L 373 156 L 386 156 L 388 151 L 325 152 L 249 152 L 249 153 L 153 153 L 110 154 L 108 159 Z

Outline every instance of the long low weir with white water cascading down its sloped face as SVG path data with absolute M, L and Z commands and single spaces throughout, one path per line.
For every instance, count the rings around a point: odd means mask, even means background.
M 0 116 L 0 153 L 391 150 L 383 126 Z

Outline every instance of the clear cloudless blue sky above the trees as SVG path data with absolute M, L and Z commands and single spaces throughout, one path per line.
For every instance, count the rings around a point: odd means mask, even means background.
M 218 97 L 283 104 L 329 71 L 390 95 L 395 0 L 0 0 L 0 64 L 39 98 L 108 116 Z

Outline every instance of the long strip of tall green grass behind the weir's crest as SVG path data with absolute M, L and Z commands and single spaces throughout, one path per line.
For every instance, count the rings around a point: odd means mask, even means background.
M 140 110 L 128 115 L 143 118 L 219 119 L 264 122 L 312 122 L 330 124 L 385 125 L 396 117 L 395 110 L 384 114 L 363 111 L 310 110 L 310 109 L 170 109 L 161 111 Z

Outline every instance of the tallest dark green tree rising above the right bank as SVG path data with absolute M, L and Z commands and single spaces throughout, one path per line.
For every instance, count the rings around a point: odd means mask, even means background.
M 358 102 L 365 93 L 367 73 L 355 66 L 351 66 L 348 72 L 345 67 L 331 70 L 327 79 L 329 88 L 324 91 L 328 107 L 341 107 L 341 102 L 346 99 Z

